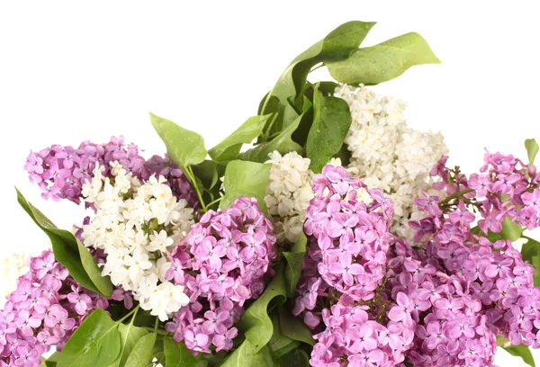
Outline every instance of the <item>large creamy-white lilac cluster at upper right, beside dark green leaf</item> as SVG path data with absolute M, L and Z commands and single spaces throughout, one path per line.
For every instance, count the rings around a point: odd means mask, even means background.
M 334 95 L 348 103 L 353 119 L 345 139 L 351 152 L 347 170 L 389 196 L 395 209 L 392 232 L 412 240 L 409 219 L 424 217 L 413 201 L 423 190 L 436 193 L 429 190 L 429 171 L 448 152 L 442 134 L 410 128 L 403 101 L 375 94 L 364 85 L 341 85 Z

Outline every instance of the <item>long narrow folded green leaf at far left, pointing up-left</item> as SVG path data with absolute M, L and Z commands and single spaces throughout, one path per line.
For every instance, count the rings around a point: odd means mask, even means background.
M 23 194 L 17 190 L 17 201 L 49 237 L 54 256 L 58 263 L 64 265 L 67 271 L 80 285 L 87 290 L 100 293 L 104 297 L 112 295 L 110 278 L 103 277 L 97 267 L 94 257 L 71 232 L 58 229 L 45 215 L 27 201 Z

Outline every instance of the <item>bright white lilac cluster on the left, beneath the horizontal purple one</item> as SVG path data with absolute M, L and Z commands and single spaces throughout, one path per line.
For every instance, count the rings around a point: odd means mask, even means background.
M 165 177 L 141 183 L 118 162 L 111 166 L 112 178 L 96 166 L 83 185 L 85 201 L 95 210 L 83 226 L 85 246 L 103 249 L 103 276 L 165 321 L 189 302 L 184 287 L 166 281 L 165 274 L 171 266 L 167 255 L 193 224 L 193 209 L 175 198 Z

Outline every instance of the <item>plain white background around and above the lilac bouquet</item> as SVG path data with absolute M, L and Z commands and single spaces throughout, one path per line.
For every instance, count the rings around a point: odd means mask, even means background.
M 2 2 L 1 249 L 47 246 L 14 185 L 58 226 L 80 219 L 75 205 L 42 201 L 28 183 L 30 149 L 124 135 L 148 157 L 161 154 L 148 112 L 197 130 L 211 148 L 257 113 L 298 53 L 350 20 L 378 22 L 364 45 L 418 31 L 443 61 L 377 89 L 409 103 L 413 127 L 442 130 L 452 164 L 472 172 L 483 148 L 526 157 L 523 140 L 540 139 L 533 4 Z M 503 352 L 498 363 L 522 365 Z

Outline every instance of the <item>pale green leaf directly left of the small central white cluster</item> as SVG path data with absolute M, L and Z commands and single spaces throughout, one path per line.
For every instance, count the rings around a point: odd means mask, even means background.
M 220 209 L 225 210 L 240 196 L 256 198 L 258 207 L 266 212 L 265 194 L 268 175 L 272 165 L 234 160 L 225 169 Z

